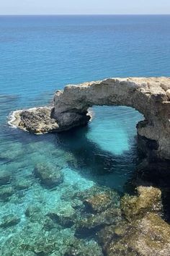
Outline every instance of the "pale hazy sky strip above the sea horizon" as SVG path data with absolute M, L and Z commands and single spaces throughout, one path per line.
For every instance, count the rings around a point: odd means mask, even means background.
M 170 14 L 170 0 L 0 0 L 0 14 Z

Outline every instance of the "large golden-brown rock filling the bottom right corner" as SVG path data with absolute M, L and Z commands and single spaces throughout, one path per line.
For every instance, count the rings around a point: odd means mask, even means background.
M 108 256 L 169 255 L 170 226 L 156 213 L 147 213 L 142 219 L 124 226 L 123 235 L 105 245 L 104 250 Z

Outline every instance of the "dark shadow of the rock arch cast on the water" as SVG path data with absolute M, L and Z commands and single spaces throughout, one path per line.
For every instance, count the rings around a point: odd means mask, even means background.
M 76 163 L 70 161 L 68 165 L 79 171 L 81 176 L 108 187 L 119 187 L 121 179 L 127 182 L 133 175 L 135 163 L 138 161 L 135 142 L 130 150 L 122 155 L 115 155 L 109 150 L 102 150 L 96 142 L 89 140 L 86 137 L 88 132 L 87 125 L 55 135 L 56 146 L 73 154 L 76 159 Z

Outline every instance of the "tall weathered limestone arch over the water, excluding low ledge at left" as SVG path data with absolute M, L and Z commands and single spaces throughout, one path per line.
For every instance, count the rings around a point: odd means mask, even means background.
M 170 78 L 111 78 L 81 85 L 68 85 L 54 96 L 58 124 L 69 113 L 83 114 L 94 105 L 130 106 L 145 117 L 137 129 L 140 137 L 152 140 L 158 158 L 170 158 Z M 72 120 L 70 120 L 71 122 Z

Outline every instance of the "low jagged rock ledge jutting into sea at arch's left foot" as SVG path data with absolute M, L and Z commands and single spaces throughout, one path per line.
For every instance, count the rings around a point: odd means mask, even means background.
M 29 108 L 27 110 L 19 110 L 12 112 L 9 117 L 9 125 L 14 128 L 22 129 L 35 135 L 42 135 L 49 132 L 63 132 L 76 126 L 86 125 L 91 119 L 91 112 L 81 118 L 81 115 L 73 116 L 71 124 L 58 124 L 53 117 L 54 107 L 45 106 L 37 108 Z

